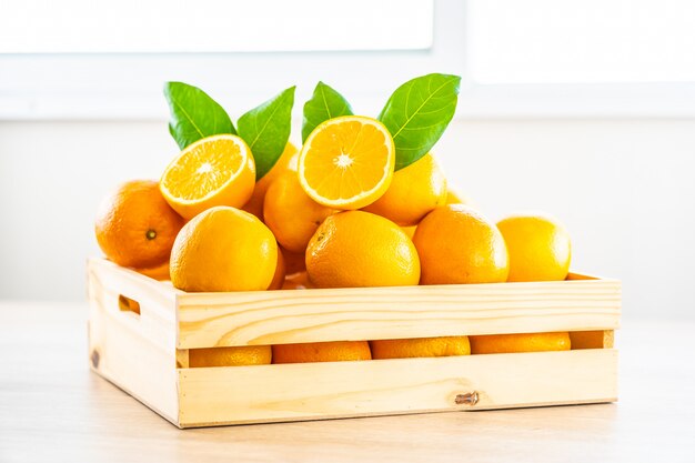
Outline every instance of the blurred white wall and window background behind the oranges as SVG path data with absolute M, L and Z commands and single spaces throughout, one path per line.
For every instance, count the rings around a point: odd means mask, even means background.
M 162 85 L 236 119 L 323 80 L 376 115 L 402 82 L 463 77 L 435 147 L 491 219 L 544 210 L 624 316 L 695 319 L 695 2 L 0 0 L 0 299 L 84 300 L 92 221 L 178 153 Z

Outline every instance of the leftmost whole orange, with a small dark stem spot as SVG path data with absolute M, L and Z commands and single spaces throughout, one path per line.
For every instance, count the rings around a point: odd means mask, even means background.
M 120 184 L 101 201 L 94 233 L 109 260 L 145 269 L 169 261 L 183 223 L 162 198 L 157 182 L 133 180 Z

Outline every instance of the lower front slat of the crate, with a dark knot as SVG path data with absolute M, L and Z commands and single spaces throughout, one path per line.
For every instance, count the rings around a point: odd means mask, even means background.
M 179 370 L 182 427 L 612 402 L 617 352 Z

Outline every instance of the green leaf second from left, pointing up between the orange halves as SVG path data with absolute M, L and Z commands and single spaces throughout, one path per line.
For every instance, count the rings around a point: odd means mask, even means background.
M 294 87 L 283 90 L 260 107 L 239 118 L 239 137 L 244 139 L 255 160 L 255 180 L 270 171 L 284 151 L 292 130 Z

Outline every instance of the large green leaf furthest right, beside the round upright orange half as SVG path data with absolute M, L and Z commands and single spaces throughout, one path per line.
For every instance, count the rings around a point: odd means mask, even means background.
M 456 111 L 461 78 L 427 74 L 409 80 L 393 92 L 379 120 L 395 144 L 395 170 L 425 155 Z

